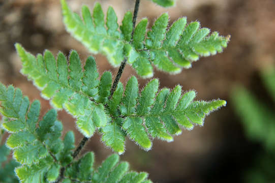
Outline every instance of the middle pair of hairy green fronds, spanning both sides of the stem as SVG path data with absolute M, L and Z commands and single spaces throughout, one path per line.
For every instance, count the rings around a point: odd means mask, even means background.
M 16 44 L 16 49 L 23 63 L 21 72 L 39 86 L 42 96 L 51 98 L 54 107 L 63 106 L 75 116 L 80 132 L 86 137 L 93 135 L 96 128 L 100 129 L 102 141 L 119 154 L 125 151 L 125 135 L 148 150 L 151 148 L 149 136 L 172 141 L 171 135 L 180 134 L 180 127 L 192 130 L 194 125 L 202 126 L 205 115 L 226 104 L 223 100 L 193 101 L 195 92 L 191 90 L 182 95 L 179 85 L 171 92 L 164 88 L 156 96 L 158 79 L 151 80 L 139 93 L 138 81 L 134 76 L 129 79 L 125 90 L 119 83 L 112 99 L 107 101 L 112 77 L 105 72 L 100 81 L 97 80 L 93 57 L 88 57 L 82 72 L 76 51 L 71 52 L 68 67 L 62 53 L 58 53 L 55 62 L 49 51 L 35 58 L 19 44 Z M 60 64 L 61 60 L 64 64 Z M 51 67 L 48 66 L 50 62 Z M 38 63 L 45 65 L 45 68 L 36 69 Z M 51 88 L 51 93 L 47 92 L 47 88 Z

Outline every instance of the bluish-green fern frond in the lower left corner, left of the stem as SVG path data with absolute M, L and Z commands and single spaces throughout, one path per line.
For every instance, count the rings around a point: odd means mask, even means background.
M 13 150 L 13 158 L 20 164 L 16 174 L 22 182 L 52 182 L 59 175 L 59 163 L 69 164 L 64 158 L 71 158 L 68 134 L 64 141 L 60 139 L 63 130 L 62 123 L 57 120 L 55 110 L 49 110 L 38 123 L 40 102 L 34 101 L 29 105 L 27 97 L 22 96 L 20 89 L 13 86 L 6 88 L 0 83 L 0 113 L 9 119 L 3 127 L 11 133 L 6 145 Z M 74 140 L 73 140 L 74 142 Z M 58 156 L 63 154 L 63 157 Z M 59 163 L 58 163 L 58 162 Z M 45 181 L 46 181 L 45 180 Z

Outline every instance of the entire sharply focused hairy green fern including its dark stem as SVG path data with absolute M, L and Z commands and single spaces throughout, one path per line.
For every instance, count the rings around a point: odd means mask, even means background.
M 163 7 L 174 5 L 173 0 L 152 1 Z M 119 163 L 116 154 L 98 168 L 94 167 L 93 153 L 82 157 L 78 154 L 96 131 L 102 134 L 106 146 L 118 154 L 125 151 L 126 136 L 149 150 L 152 139 L 172 141 L 173 135 L 179 135 L 182 128 L 192 130 L 196 125 L 202 126 L 206 115 L 226 105 L 223 100 L 194 101 L 195 91 L 182 92 L 179 85 L 171 91 L 159 89 L 158 79 L 149 81 L 140 92 L 134 76 L 125 87 L 118 82 L 125 62 L 142 77 L 152 76 L 152 65 L 177 73 L 182 67 L 191 67 L 191 62 L 199 56 L 221 52 L 229 41 L 216 32 L 209 35 L 209 29 L 199 28 L 199 22 L 187 25 L 186 18 L 175 21 L 167 31 L 169 17 L 166 13 L 146 33 L 147 19 L 135 26 L 137 2 L 134 15 L 127 12 L 118 31 L 117 17 L 111 7 L 105 23 L 100 4 L 95 4 L 93 17 L 83 6 L 83 23 L 66 1 L 61 0 L 68 31 L 91 52 L 104 53 L 113 66 L 121 64 L 114 82 L 111 72 L 99 77 L 92 56 L 82 68 L 74 50 L 68 59 L 61 52 L 55 58 L 48 50 L 34 56 L 15 44 L 22 62 L 21 73 L 33 81 L 54 109 L 41 116 L 39 101 L 30 103 L 20 89 L 0 83 L 2 127 L 10 133 L 6 146 L 0 146 L 0 163 L 5 161 L 5 167 L 0 170 L 1 182 L 18 181 L 16 173 L 20 182 L 31 183 L 149 183 L 147 173 L 129 171 L 129 164 Z M 77 128 L 84 135 L 77 147 L 72 131 L 62 138 L 63 124 L 57 119 L 56 111 L 60 109 L 76 119 Z M 16 162 L 7 162 L 10 153 L 7 147 L 12 149 Z M 13 169 L 15 171 L 11 171 Z

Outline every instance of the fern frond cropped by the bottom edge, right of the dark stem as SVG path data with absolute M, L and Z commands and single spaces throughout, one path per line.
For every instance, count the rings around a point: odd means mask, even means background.
M 65 172 L 69 179 L 95 183 L 148 182 L 148 174 L 129 171 L 127 162 L 119 163 L 118 155 L 111 155 L 98 168 L 94 168 L 94 154 L 87 153 Z M 70 182 L 68 180 L 68 182 Z

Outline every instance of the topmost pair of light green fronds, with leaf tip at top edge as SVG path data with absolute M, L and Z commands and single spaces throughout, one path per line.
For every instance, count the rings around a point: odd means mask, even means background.
M 170 6 L 174 2 L 153 1 L 163 6 Z M 107 11 L 105 23 L 104 13 L 98 3 L 95 4 L 92 16 L 86 6 L 82 7 L 83 20 L 72 12 L 65 0 L 61 0 L 61 3 L 64 23 L 74 38 L 92 53 L 105 54 L 114 67 L 127 58 L 128 64 L 142 77 L 153 76 L 152 65 L 168 73 L 179 73 L 181 68 L 190 68 L 199 56 L 222 52 L 229 41 L 217 32 L 209 35 L 209 29 L 200 28 L 197 21 L 187 25 L 185 17 L 176 20 L 168 29 L 167 13 L 162 14 L 147 33 L 148 20 L 142 19 L 135 27 L 132 40 L 131 12 L 125 14 L 119 31 L 117 17 L 111 7 Z

